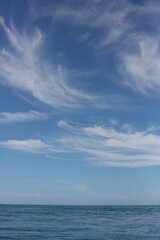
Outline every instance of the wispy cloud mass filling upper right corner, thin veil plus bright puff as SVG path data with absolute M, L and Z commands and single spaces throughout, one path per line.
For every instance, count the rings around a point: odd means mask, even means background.
M 79 7 L 72 1 L 57 8 L 50 6 L 43 9 L 41 17 L 51 16 L 54 21 L 65 19 L 72 26 L 84 27 L 79 36 L 81 41 L 102 49 L 103 54 L 114 50 L 120 58 L 118 68 L 125 78 L 121 83 L 148 93 L 159 91 L 160 85 L 159 11 L 157 0 L 137 3 L 87 0 Z M 114 47 L 109 49 L 109 44 Z

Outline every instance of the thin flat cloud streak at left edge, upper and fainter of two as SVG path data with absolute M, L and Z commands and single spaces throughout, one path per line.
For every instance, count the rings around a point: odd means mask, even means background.
M 11 122 L 30 122 L 36 120 L 47 119 L 49 116 L 46 113 L 41 113 L 37 111 L 29 112 L 0 112 L 0 124 L 1 123 L 11 123 Z

